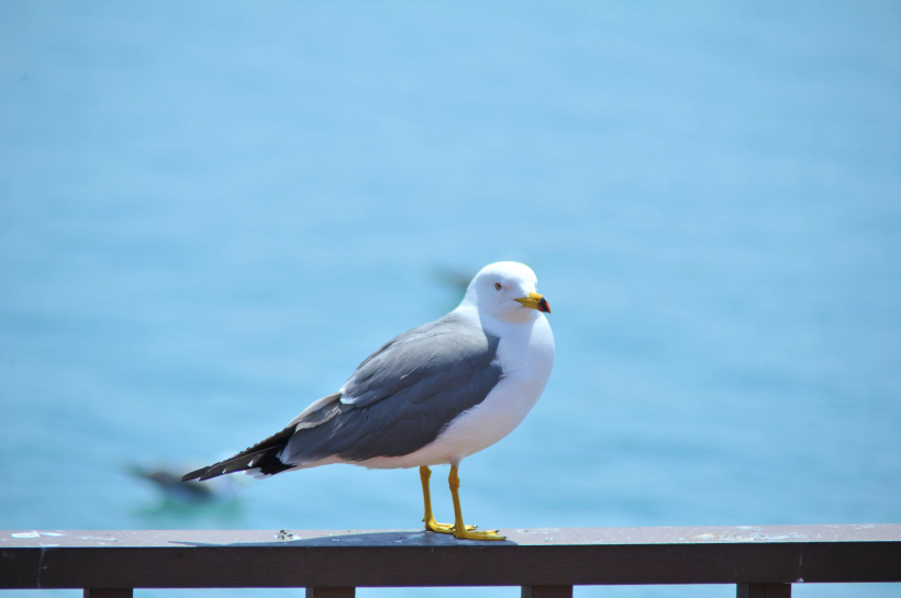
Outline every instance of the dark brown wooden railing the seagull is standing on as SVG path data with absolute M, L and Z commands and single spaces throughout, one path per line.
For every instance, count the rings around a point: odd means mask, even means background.
M 423 531 L 0 532 L 0 588 L 522 586 L 523 597 L 574 585 L 734 584 L 781 598 L 791 584 L 901 582 L 901 524 L 501 530 L 505 542 Z

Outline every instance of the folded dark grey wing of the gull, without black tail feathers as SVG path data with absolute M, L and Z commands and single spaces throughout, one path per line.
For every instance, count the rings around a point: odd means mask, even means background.
M 499 340 L 453 313 L 394 337 L 360 363 L 340 398 L 296 420 L 281 461 L 415 452 L 497 385 Z

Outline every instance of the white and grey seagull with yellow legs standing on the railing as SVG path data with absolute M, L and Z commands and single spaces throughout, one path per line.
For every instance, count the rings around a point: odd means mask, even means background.
M 181 481 L 234 472 L 269 477 L 333 463 L 419 467 L 426 531 L 504 540 L 464 523 L 458 471 L 522 422 L 550 376 L 550 306 L 536 285 L 522 263 L 486 266 L 456 309 L 382 345 L 338 392 L 314 400 L 280 432 Z M 453 524 L 435 521 L 429 483 L 429 467 L 446 464 Z

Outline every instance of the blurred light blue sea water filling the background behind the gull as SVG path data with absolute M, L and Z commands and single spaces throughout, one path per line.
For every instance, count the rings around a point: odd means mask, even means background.
M 897 2 L 5 1 L 0 529 L 418 528 L 415 471 L 173 476 L 501 259 L 557 361 L 468 520 L 901 521 Z M 460 594 L 519 588 L 359 593 Z

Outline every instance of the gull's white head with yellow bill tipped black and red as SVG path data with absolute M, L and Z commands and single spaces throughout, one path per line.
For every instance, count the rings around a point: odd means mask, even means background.
M 523 263 L 490 263 L 469 283 L 461 306 L 504 321 L 530 321 L 541 317 L 540 312 L 550 313 L 547 300 L 536 292 L 537 283 L 535 272 Z

